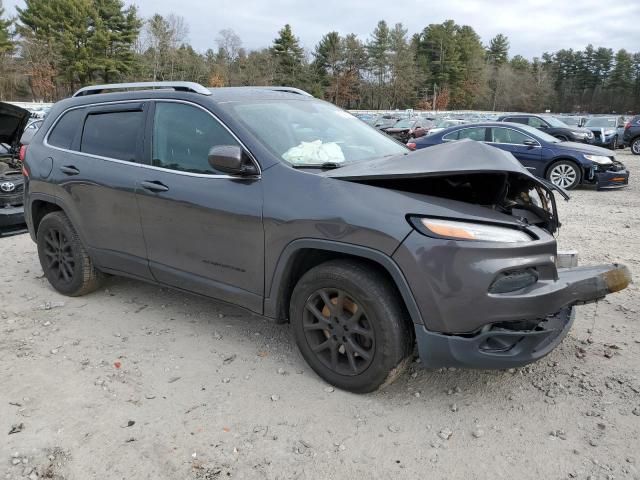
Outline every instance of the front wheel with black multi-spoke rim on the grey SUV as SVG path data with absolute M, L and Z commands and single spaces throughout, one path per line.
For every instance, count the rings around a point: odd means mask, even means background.
M 413 330 L 397 290 L 374 268 L 332 260 L 305 273 L 290 304 L 293 334 L 309 366 L 355 393 L 393 382 L 413 352 Z

